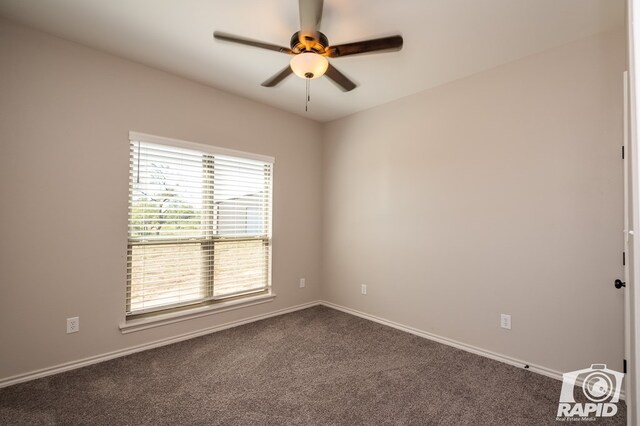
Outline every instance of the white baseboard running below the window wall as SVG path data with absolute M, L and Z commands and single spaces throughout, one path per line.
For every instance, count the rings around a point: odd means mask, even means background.
M 277 311 L 256 315 L 256 316 L 245 318 L 238 321 L 231 321 L 231 322 L 216 325 L 213 327 L 208 327 L 201 330 L 180 334 L 178 336 L 173 336 L 166 339 L 160 339 L 153 342 L 144 343 L 142 345 L 132 346 L 126 349 L 120 349 L 117 351 L 108 352 L 102 355 L 96 355 L 88 358 L 79 359 L 76 361 L 66 362 L 64 364 L 59 364 L 53 367 L 47 367 L 40 370 L 31 371 L 29 373 L 18 374 L 16 376 L 0 379 L 0 388 L 15 385 L 17 383 L 28 382 L 29 380 L 39 379 L 41 377 L 51 376 L 53 374 L 62 373 L 64 371 L 75 370 L 76 368 L 86 367 L 92 364 L 98 364 L 100 362 L 108 361 L 110 359 L 131 355 L 136 352 L 146 351 L 148 349 L 158 348 L 160 346 L 170 345 L 172 343 L 181 342 L 183 340 L 193 339 L 194 337 L 204 336 L 206 334 L 215 333 L 216 331 L 222 331 L 228 328 L 238 327 L 240 325 L 248 324 L 255 321 L 260 321 L 260 320 L 275 317 L 278 315 L 284 315 L 290 312 L 311 308 L 319 304 L 320 304 L 319 301 L 304 303 L 302 305 L 293 306 L 291 308 L 280 309 Z

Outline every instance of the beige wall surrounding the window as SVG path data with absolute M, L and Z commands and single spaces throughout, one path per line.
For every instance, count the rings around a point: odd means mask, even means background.
M 319 124 L 2 20 L 0 58 L 0 379 L 319 298 Z M 276 158 L 274 302 L 120 333 L 130 130 Z

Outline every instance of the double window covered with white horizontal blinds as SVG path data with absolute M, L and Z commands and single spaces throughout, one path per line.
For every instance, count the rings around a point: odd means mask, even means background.
M 129 139 L 127 316 L 269 292 L 273 159 Z

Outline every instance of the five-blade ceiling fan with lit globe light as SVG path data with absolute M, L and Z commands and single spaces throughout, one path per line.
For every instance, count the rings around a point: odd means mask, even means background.
M 298 6 L 300 9 L 300 31 L 291 36 L 291 47 L 277 46 L 219 31 L 215 31 L 213 36 L 218 40 L 292 55 L 290 64 L 263 82 L 262 86 L 264 87 L 275 87 L 290 74 L 295 73 L 307 81 L 326 75 L 340 89 L 348 92 L 355 89 L 356 84 L 331 65 L 327 58 L 402 49 L 402 36 L 400 35 L 332 46 L 329 44 L 327 36 L 319 31 L 323 0 L 298 0 Z

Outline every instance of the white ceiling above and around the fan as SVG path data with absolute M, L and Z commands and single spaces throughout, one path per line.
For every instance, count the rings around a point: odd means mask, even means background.
M 289 56 L 214 41 L 214 30 L 288 46 L 296 0 L 0 0 L 0 15 L 48 33 L 272 105 L 329 121 L 624 25 L 624 0 L 325 0 L 331 44 L 392 34 L 400 52 L 332 59 L 358 84 L 290 76 L 260 83 Z

